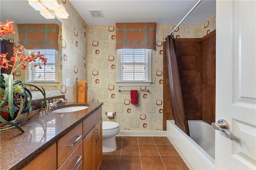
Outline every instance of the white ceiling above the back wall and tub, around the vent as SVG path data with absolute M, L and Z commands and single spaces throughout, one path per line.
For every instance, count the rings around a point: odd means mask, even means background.
M 88 25 L 118 22 L 178 24 L 198 0 L 70 0 Z M 101 10 L 104 18 L 92 18 L 88 10 Z M 216 13 L 215 0 L 203 0 L 182 24 L 202 24 Z

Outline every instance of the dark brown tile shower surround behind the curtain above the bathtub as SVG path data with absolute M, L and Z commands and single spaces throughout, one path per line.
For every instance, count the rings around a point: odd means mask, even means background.
M 163 76 L 164 117 L 173 120 L 170 99 L 168 62 L 164 44 Z M 176 57 L 180 72 L 180 82 L 188 120 L 215 122 L 215 69 L 216 30 L 203 38 L 175 38 Z

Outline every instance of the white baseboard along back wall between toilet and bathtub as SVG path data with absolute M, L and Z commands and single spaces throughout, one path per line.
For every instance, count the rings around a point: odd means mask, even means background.
M 166 130 L 120 130 L 116 136 L 166 136 Z

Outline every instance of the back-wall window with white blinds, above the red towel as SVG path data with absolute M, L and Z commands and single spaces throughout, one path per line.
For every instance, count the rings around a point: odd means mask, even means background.
M 151 49 L 118 49 L 118 86 L 150 86 L 151 53 Z

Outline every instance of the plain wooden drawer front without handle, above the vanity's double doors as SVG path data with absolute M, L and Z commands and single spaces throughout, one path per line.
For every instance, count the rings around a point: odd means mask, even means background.
M 90 132 L 90 130 L 100 120 L 101 117 L 102 117 L 102 107 L 100 107 L 92 115 L 90 115 L 83 121 L 83 138 L 84 136 L 86 136 L 86 134 Z

